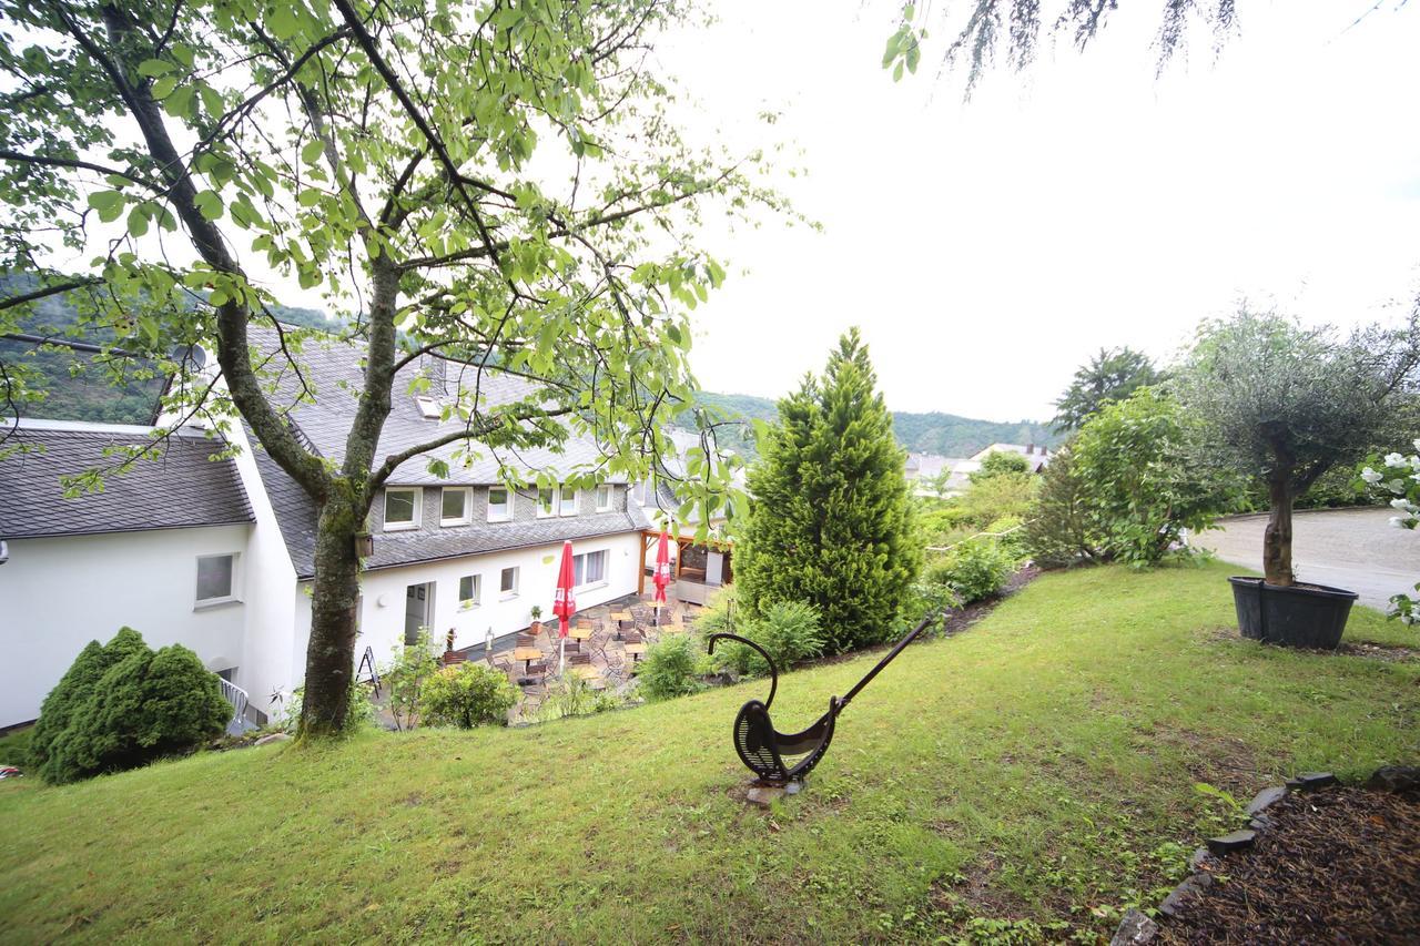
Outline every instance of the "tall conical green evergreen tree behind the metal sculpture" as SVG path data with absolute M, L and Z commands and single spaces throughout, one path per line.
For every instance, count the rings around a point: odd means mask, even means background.
M 832 651 L 892 634 L 922 553 L 912 544 L 906 459 L 856 328 L 780 401 L 780 422 L 750 470 L 753 514 L 736 547 L 740 601 L 758 614 L 804 601 Z

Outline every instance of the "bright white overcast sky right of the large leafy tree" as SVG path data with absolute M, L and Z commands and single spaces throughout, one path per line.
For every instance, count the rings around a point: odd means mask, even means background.
M 856 324 L 892 408 L 1044 419 L 1099 347 L 1166 358 L 1242 295 L 1396 318 L 1420 286 L 1420 3 L 1394 1 L 1350 27 L 1375 0 L 1240 0 L 1221 55 L 1201 37 L 1159 81 L 1159 4 L 1132 1 L 968 104 L 940 34 L 916 77 L 879 67 L 895 4 L 716 3 L 657 48 L 686 119 L 768 141 L 747 118 L 780 109 L 809 172 L 784 189 L 824 232 L 713 237 L 734 278 L 694 314 L 699 379 L 778 396 Z

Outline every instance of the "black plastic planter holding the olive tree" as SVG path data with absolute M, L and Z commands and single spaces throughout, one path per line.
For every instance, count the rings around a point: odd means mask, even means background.
M 1242 577 L 1228 581 L 1242 636 L 1291 648 L 1335 651 L 1358 597 L 1325 585 L 1269 585 Z

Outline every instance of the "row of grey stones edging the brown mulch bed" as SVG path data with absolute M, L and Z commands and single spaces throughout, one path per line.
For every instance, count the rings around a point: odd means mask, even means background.
M 1416 785 L 1417 781 L 1420 781 L 1420 768 L 1386 766 L 1377 768 L 1365 787 L 1380 791 L 1402 791 Z M 1193 874 L 1186 876 L 1179 886 L 1173 888 L 1169 896 L 1159 905 L 1159 912 L 1164 916 L 1177 916 L 1186 896 L 1201 893 L 1211 886 L 1213 874 L 1210 864 L 1230 851 L 1244 851 L 1252 847 L 1257 835 L 1272 827 L 1272 820 L 1267 817 L 1268 808 L 1294 791 L 1316 791 L 1318 788 L 1329 788 L 1336 784 L 1340 784 L 1339 780 L 1329 771 L 1309 771 L 1295 778 L 1288 778 L 1284 785 L 1272 785 L 1257 793 L 1247 808 L 1244 808 L 1244 812 L 1250 818 L 1248 827 L 1217 838 L 1208 838 L 1206 842 L 1207 847 L 1194 851 L 1193 857 L 1189 858 L 1189 866 L 1193 868 Z M 1130 909 L 1119 922 L 1119 929 L 1115 930 L 1109 946 L 1136 946 L 1152 942 L 1157 935 L 1159 923 L 1153 918 L 1143 910 Z

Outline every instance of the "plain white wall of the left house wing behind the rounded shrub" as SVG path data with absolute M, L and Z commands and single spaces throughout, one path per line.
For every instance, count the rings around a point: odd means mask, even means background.
M 182 643 L 209 669 L 244 659 L 243 601 L 195 609 L 197 555 L 239 553 L 244 598 L 250 526 L 17 538 L 0 565 L 0 726 L 36 719 L 84 645 L 121 626 L 152 648 Z M 241 670 L 239 670 L 240 682 Z

